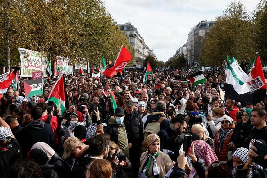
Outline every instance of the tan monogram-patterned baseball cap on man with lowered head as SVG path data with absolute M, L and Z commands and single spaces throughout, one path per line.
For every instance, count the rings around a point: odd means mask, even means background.
M 63 159 L 70 157 L 71 152 L 81 144 L 81 141 L 77 137 L 69 137 L 63 144 L 64 154 Z

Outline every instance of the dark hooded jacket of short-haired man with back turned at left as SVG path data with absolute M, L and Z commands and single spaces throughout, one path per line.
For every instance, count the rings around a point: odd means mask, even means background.
M 43 121 L 31 121 L 27 127 L 20 131 L 18 142 L 21 146 L 22 157 L 26 157 L 28 151 L 37 142 L 44 142 L 53 147 L 54 134 L 50 124 Z

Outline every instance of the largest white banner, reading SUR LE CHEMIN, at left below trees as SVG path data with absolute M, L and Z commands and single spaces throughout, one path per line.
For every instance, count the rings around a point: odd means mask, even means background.
M 32 51 L 24 48 L 18 48 L 18 50 L 20 53 L 22 77 L 32 77 L 32 73 L 36 71 L 43 71 L 44 76 L 46 76 L 46 55 L 43 54 L 43 56 L 41 56 L 38 51 Z

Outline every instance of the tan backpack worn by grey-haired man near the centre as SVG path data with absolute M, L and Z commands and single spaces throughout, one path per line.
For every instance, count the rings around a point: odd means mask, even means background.
M 166 117 L 161 117 L 157 121 L 152 121 L 147 124 L 146 128 L 144 129 L 144 141 L 142 142 L 142 147 L 147 147 L 147 136 L 149 134 L 157 134 L 160 131 L 160 124 L 162 121 L 167 119 Z

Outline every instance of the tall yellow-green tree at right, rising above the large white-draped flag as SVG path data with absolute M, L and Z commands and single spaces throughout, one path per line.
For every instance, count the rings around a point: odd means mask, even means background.
M 201 63 L 219 66 L 227 55 L 235 55 L 238 61 L 255 56 L 254 25 L 241 2 L 231 2 L 223 15 L 207 34 L 201 52 Z

